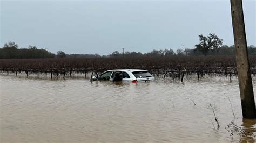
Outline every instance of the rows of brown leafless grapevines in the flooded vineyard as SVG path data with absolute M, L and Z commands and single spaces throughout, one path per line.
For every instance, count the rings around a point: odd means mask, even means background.
M 252 74 L 256 74 L 256 56 L 250 56 Z M 70 75 L 109 69 L 146 69 L 154 75 L 180 77 L 182 73 L 237 75 L 234 56 L 171 56 L 138 58 L 52 58 L 2 59 L 0 71 L 6 73 Z

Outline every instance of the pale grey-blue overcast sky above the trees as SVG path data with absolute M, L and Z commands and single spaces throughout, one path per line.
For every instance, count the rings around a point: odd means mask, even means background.
M 1 47 L 35 45 L 56 53 L 150 52 L 185 45 L 215 33 L 233 45 L 229 0 L 1 1 Z M 256 2 L 244 0 L 247 44 L 256 45 Z

